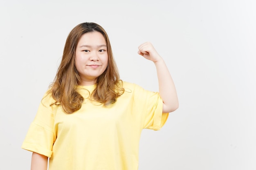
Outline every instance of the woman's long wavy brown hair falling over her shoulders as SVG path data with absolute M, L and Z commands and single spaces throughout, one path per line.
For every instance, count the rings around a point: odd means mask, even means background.
M 83 96 L 76 91 L 81 79 L 75 67 L 75 51 L 81 36 L 94 31 L 101 33 L 106 40 L 108 66 L 97 78 L 97 87 L 92 92 L 91 99 L 108 106 L 115 103 L 117 97 L 124 93 L 106 31 L 99 24 L 93 22 L 81 23 L 75 26 L 67 36 L 61 64 L 49 91 L 55 100 L 51 106 L 61 105 L 65 113 L 74 113 L 79 110 L 84 101 Z

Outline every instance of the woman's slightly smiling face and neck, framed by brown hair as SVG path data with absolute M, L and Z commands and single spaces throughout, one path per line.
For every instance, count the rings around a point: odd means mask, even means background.
M 103 35 L 97 31 L 83 34 L 75 52 L 75 67 L 82 80 L 79 85 L 95 84 L 107 65 L 108 51 Z

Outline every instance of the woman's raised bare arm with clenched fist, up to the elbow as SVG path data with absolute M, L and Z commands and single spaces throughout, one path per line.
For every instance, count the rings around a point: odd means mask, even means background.
M 163 113 L 173 112 L 179 107 L 179 102 L 173 79 L 164 60 L 150 42 L 141 44 L 138 49 L 138 54 L 154 62 L 157 69 L 159 94 L 163 100 Z

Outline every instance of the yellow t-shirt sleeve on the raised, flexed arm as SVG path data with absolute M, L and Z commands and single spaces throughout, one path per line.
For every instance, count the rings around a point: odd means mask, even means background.
M 135 85 L 135 100 L 142 114 L 142 128 L 160 130 L 166 123 L 169 113 L 162 113 L 163 100 L 158 92 L 147 91 Z

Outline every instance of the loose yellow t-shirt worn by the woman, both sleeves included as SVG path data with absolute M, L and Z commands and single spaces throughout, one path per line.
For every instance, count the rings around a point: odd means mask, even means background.
M 168 118 L 159 93 L 123 82 L 124 94 L 104 107 L 88 99 L 95 87 L 78 87 L 85 101 L 72 114 L 43 98 L 22 148 L 50 157 L 49 170 L 137 170 L 141 130 Z

